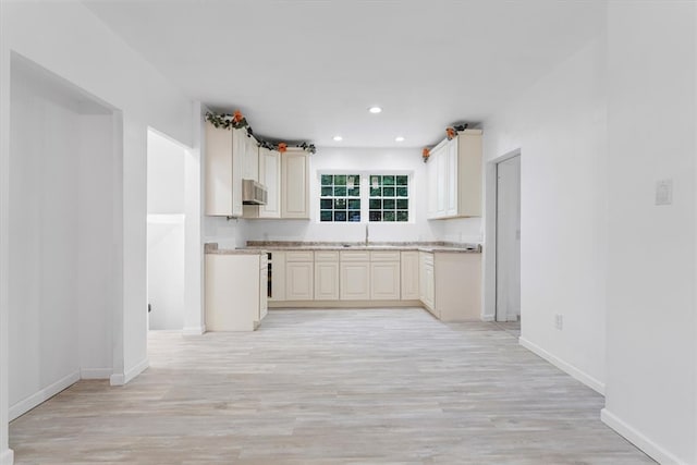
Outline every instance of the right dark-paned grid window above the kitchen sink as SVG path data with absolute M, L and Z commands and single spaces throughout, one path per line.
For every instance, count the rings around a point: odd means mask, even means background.
M 369 221 L 409 220 L 409 176 L 370 174 Z

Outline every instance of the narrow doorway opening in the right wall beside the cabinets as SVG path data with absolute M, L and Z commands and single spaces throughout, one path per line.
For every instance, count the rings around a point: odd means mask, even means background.
M 521 156 L 497 163 L 496 319 L 521 320 Z

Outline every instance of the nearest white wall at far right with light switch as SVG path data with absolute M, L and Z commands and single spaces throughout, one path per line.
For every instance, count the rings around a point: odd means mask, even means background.
M 602 418 L 697 463 L 697 4 L 609 7 L 608 388 Z M 655 205 L 673 180 L 673 204 Z

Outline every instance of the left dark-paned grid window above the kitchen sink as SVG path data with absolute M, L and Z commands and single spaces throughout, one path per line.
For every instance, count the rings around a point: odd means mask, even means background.
M 319 221 L 360 221 L 360 175 L 322 174 Z

